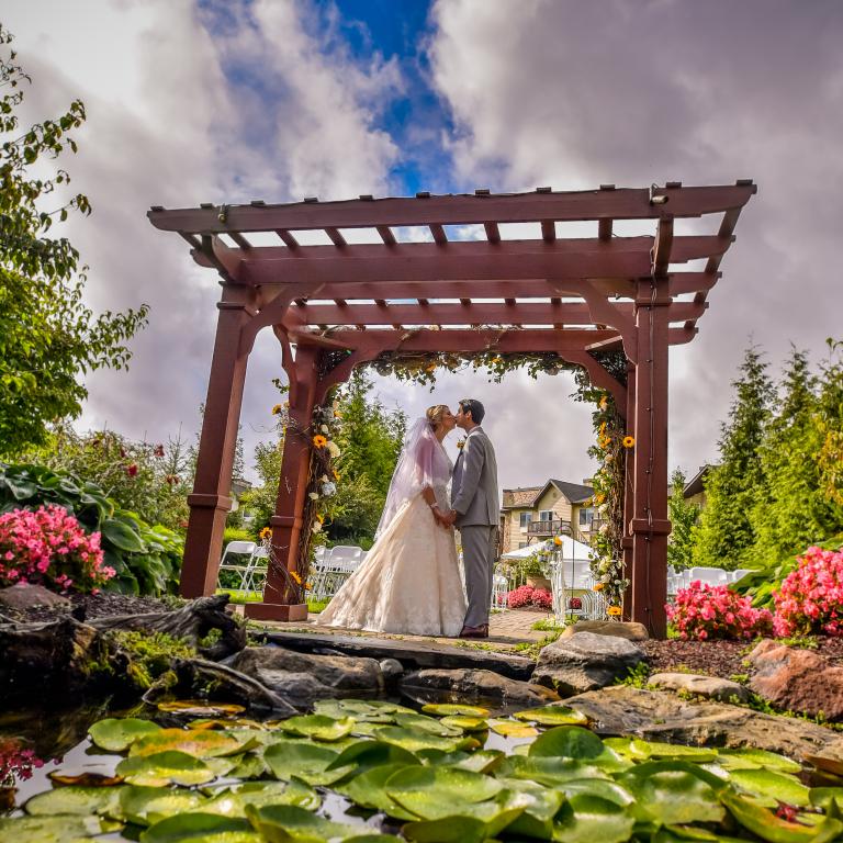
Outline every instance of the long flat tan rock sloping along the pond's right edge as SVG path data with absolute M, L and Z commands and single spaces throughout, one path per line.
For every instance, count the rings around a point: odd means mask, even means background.
M 565 705 L 591 717 L 600 734 L 698 746 L 756 746 L 799 761 L 817 754 L 843 760 L 843 738 L 825 727 L 724 702 L 692 702 L 667 692 L 618 685 L 571 697 Z

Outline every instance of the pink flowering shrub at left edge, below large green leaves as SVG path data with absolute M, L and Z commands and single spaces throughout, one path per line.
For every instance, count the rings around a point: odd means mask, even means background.
M 90 592 L 114 573 L 103 565 L 100 533 L 86 533 L 64 507 L 0 515 L 0 585 L 27 582 Z

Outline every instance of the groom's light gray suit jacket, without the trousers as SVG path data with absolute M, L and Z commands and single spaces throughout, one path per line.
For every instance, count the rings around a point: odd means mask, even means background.
M 497 527 L 501 518 L 495 449 L 480 425 L 465 437 L 453 467 L 451 507 L 457 510 L 457 527 Z

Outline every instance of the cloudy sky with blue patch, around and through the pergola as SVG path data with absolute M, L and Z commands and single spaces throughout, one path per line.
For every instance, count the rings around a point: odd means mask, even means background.
M 668 462 L 688 474 L 717 459 L 749 345 L 776 375 L 791 344 L 817 366 L 843 336 L 839 0 L 4 0 L 0 21 L 33 80 L 24 121 L 87 106 L 61 164 L 94 209 L 63 232 L 89 304 L 150 306 L 128 372 L 87 381 L 79 429 L 199 428 L 220 288 L 150 205 L 753 179 L 699 335 L 671 349 Z M 281 374 L 263 331 L 247 462 Z M 481 398 L 504 487 L 596 469 L 570 375 L 374 382 L 411 418 Z

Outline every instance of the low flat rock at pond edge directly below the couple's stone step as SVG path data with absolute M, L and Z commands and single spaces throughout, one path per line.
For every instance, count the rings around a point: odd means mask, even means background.
M 509 679 L 492 671 L 462 667 L 452 671 L 429 668 L 408 673 L 398 683 L 402 693 L 413 699 L 442 699 L 458 702 L 463 699 L 476 701 L 517 702 L 541 705 L 559 699 L 559 695 L 547 688 L 518 679 Z

